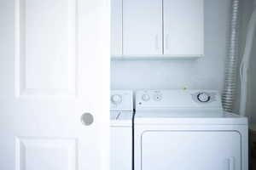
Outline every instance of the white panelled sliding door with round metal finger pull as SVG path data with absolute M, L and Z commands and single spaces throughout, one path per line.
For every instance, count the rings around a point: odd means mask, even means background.
M 0 1 L 0 169 L 108 169 L 109 5 Z

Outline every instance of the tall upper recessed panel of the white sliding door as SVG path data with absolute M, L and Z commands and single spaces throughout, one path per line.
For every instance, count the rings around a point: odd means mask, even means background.
M 75 95 L 76 0 L 16 0 L 15 5 L 16 96 Z

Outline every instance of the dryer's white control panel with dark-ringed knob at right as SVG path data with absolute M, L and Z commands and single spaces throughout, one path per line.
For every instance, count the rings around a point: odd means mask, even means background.
M 222 105 L 214 90 L 141 90 L 136 93 L 136 109 L 222 110 Z

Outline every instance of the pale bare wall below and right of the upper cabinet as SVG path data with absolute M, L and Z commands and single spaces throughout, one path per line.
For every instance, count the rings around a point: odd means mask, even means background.
M 205 57 L 190 60 L 114 60 L 112 88 L 223 88 L 230 0 L 205 0 Z M 142 44 L 143 45 L 143 44 Z

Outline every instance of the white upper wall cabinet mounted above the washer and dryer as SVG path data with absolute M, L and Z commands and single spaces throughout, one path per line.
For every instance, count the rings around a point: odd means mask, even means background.
M 112 0 L 112 55 L 204 54 L 204 0 Z

